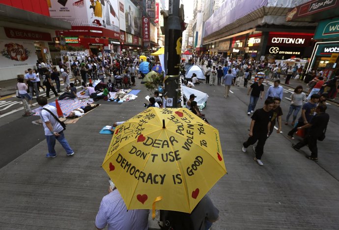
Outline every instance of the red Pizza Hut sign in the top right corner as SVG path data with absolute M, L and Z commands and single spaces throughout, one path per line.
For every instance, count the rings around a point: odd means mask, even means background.
M 339 0 L 311 0 L 290 10 L 286 15 L 286 21 L 293 21 L 311 14 L 338 7 Z

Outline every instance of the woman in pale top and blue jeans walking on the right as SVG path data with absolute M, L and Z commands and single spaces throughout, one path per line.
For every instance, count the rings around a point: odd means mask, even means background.
M 293 120 L 291 125 L 294 126 L 295 120 L 297 119 L 297 115 L 303 105 L 303 101 L 305 100 L 306 95 L 303 92 L 303 86 L 297 86 L 294 89 L 294 92 L 291 94 L 291 105 L 289 106 L 289 111 L 286 116 L 285 125 L 288 125 L 288 120 L 290 115 L 292 115 L 293 111 Z

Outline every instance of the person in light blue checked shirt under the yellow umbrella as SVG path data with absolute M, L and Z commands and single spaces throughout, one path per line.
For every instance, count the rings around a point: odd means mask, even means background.
M 95 218 L 98 230 L 108 225 L 108 230 L 148 230 L 149 210 L 131 209 L 127 211 L 119 191 L 112 180 L 109 181 L 109 194 L 103 197 Z

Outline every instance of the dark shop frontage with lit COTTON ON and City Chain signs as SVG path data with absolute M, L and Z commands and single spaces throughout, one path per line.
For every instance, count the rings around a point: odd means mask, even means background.
M 313 33 L 269 32 L 265 58 L 269 62 L 294 58 L 310 58 Z

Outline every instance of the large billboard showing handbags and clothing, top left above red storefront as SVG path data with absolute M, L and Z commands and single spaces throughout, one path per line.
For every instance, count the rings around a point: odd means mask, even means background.
M 72 26 L 90 26 L 119 31 L 116 0 L 51 0 L 52 18 L 70 22 Z

